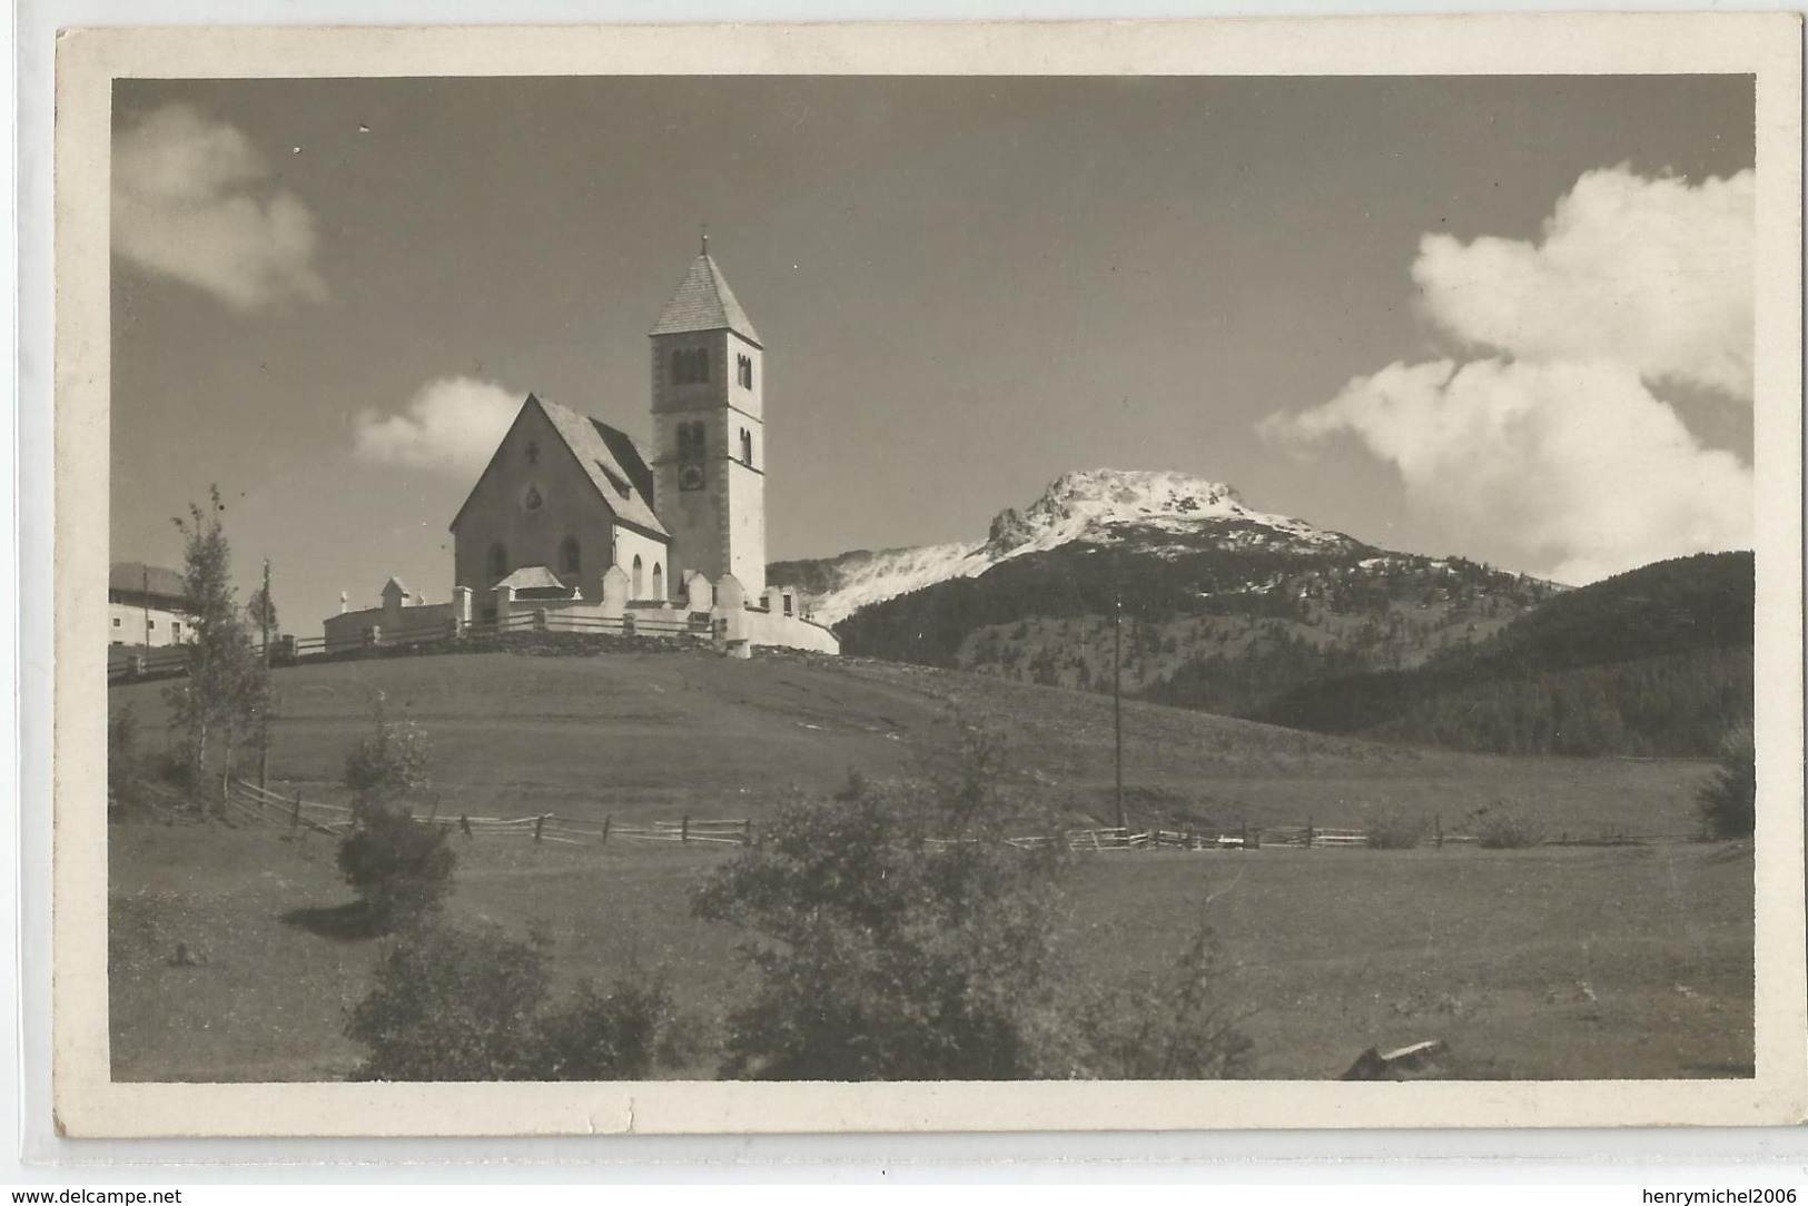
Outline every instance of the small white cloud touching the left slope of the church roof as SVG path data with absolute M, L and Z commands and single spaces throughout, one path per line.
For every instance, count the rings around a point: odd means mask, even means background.
M 447 376 L 414 392 L 401 414 L 365 410 L 353 419 L 353 456 L 476 479 L 521 410 L 526 394 L 494 382 Z

